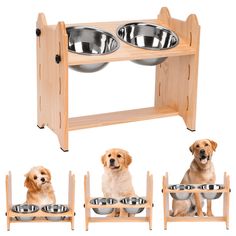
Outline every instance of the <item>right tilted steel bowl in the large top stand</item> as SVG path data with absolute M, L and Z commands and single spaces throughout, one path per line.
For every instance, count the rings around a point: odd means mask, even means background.
M 128 23 L 117 29 L 118 37 L 125 43 L 143 49 L 164 50 L 178 45 L 178 36 L 169 29 L 159 25 L 141 22 Z M 141 65 L 157 65 L 166 57 L 134 60 Z

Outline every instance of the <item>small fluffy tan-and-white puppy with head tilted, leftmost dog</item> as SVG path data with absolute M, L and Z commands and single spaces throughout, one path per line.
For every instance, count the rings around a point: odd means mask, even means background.
M 25 187 L 27 204 L 47 205 L 55 204 L 56 198 L 51 184 L 51 173 L 43 166 L 33 167 L 25 175 Z

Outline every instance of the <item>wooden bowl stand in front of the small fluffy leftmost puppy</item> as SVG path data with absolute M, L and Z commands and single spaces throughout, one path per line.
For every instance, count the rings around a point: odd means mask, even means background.
M 29 222 L 70 222 L 71 229 L 74 229 L 74 218 L 75 218 L 75 211 L 74 211 L 74 202 L 75 202 L 75 175 L 69 172 L 69 189 L 68 189 L 68 207 L 69 211 L 65 213 L 46 213 L 39 209 L 39 211 L 35 213 L 29 214 L 22 214 L 16 213 L 12 211 L 12 177 L 11 172 L 8 173 L 6 176 L 6 217 L 7 217 L 7 230 L 10 230 L 11 223 L 29 223 Z M 58 221 L 50 221 L 47 220 L 45 217 L 66 217 L 64 220 Z M 35 217 L 31 221 L 23 221 L 23 220 L 16 220 L 15 217 Z

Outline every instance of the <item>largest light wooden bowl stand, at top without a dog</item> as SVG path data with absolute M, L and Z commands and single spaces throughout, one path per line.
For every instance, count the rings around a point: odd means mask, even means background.
M 162 8 L 157 19 L 141 20 L 174 31 L 179 44 L 172 49 L 145 50 L 119 40 L 119 49 L 108 55 L 84 56 L 68 51 L 68 26 L 96 27 L 116 36 L 118 26 L 128 22 L 132 21 L 47 25 L 44 14 L 38 15 L 37 125 L 39 128 L 48 126 L 58 136 L 63 151 L 68 151 L 68 132 L 83 128 L 180 115 L 187 128 L 195 130 L 200 38 L 200 26 L 195 15 L 181 21 L 172 18 L 167 8 Z M 153 107 L 68 117 L 68 66 L 160 57 L 168 59 L 156 66 Z

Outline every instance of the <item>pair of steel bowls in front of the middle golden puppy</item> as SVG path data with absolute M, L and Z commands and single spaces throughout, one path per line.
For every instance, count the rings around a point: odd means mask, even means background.
M 96 205 L 114 205 L 118 201 L 114 198 L 94 198 L 90 201 L 90 204 L 96 206 Z M 131 208 L 128 207 L 129 205 L 131 206 L 139 206 L 147 203 L 147 201 L 144 198 L 141 197 L 128 197 L 128 198 L 123 198 L 120 200 L 120 203 L 127 205 L 127 207 L 124 208 L 124 210 L 129 213 L 129 214 L 138 214 L 141 213 L 144 208 L 139 207 L 139 208 Z M 111 214 L 114 210 L 112 207 L 104 207 L 104 208 L 93 208 L 94 212 L 100 215 L 108 215 Z

